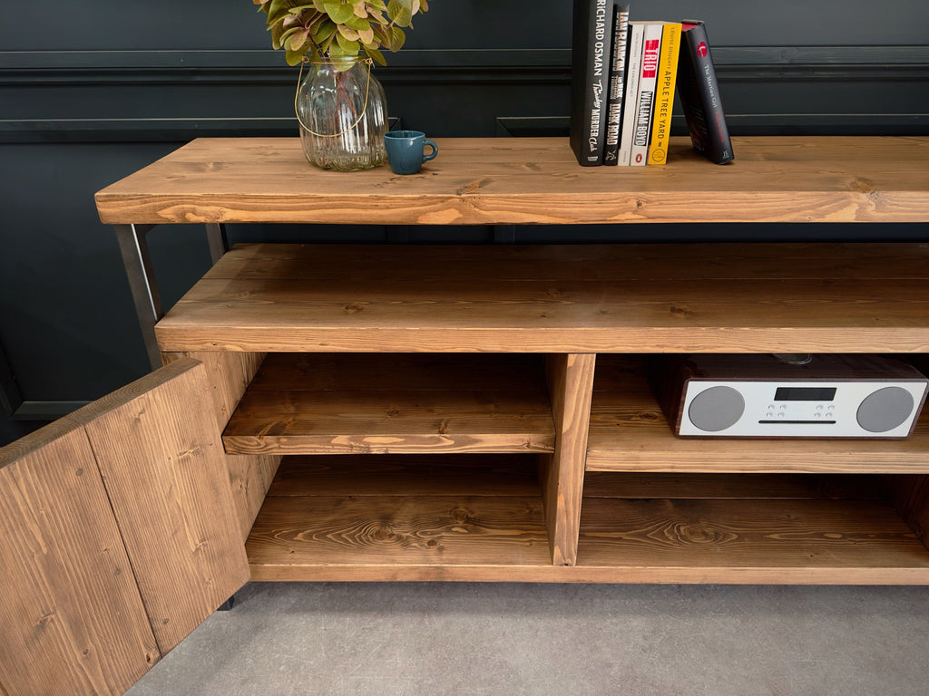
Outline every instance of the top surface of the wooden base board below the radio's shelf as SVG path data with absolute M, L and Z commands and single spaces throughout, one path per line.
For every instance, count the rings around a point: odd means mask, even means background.
M 919 570 L 929 551 L 894 512 L 873 501 L 613 499 L 585 501 L 578 563 L 823 569 L 844 574 Z M 888 573 L 889 575 L 889 573 Z

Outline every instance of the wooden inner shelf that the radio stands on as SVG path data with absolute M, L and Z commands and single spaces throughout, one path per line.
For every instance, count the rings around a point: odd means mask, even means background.
M 646 373 L 644 356 L 597 356 L 588 471 L 929 472 L 929 408 L 901 440 L 682 438 Z

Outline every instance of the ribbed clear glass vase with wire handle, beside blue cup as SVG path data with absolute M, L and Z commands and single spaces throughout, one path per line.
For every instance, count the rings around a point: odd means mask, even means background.
M 383 164 L 387 106 L 372 61 L 312 60 L 304 72 L 294 108 L 307 161 L 340 172 Z

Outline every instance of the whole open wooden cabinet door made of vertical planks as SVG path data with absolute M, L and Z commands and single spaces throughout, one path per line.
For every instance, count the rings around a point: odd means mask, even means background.
M 0 694 L 121 694 L 249 577 L 206 370 L 0 449 Z

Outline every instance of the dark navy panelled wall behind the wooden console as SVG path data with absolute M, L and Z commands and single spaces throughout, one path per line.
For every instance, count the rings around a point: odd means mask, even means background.
M 559 132 L 569 0 L 434 0 L 379 69 L 391 116 L 430 135 Z M 46 0 L 0 23 L 0 442 L 148 370 L 99 188 L 198 135 L 295 135 L 296 72 L 250 0 Z M 736 134 L 929 133 L 929 3 L 640 0 L 707 21 Z M 680 124 L 678 123 L 678 128 Z M 925 238 L 922 226 L 524 227 L 519 242 Z M 233 241 L 383 242 L 379 227 L 237 226 Z M 491 242 L 491 229 L 409 241 Z M 199 227 L 150 235 L 165 304 L 203 274 Z M 7 419 L 4 409 L 18 410 Z

